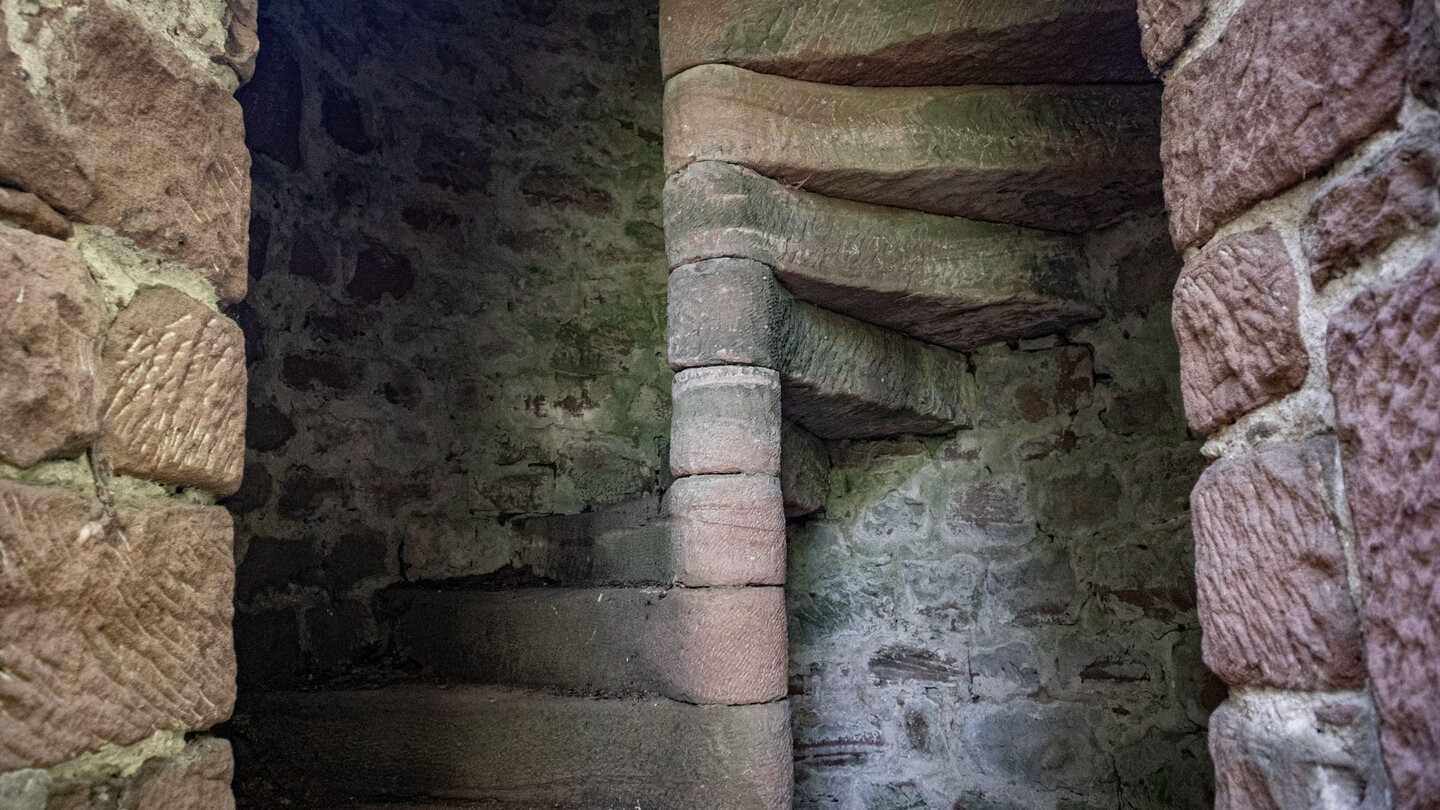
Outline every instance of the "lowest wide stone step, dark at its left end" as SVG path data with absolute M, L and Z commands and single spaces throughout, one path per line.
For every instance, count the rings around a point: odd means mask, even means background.
M 585 810 L 780 810 L 785 700 L 693 706 L 520 689 L 390 686 L 248 696 L 238 781 L 314 807 L 428 800 Z M 403 806 L 403 804 L 400 804 Z

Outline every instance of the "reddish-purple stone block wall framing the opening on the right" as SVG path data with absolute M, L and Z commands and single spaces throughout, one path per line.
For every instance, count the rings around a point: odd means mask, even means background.
M 1217 807 L 1440 801 L 1431 0 L 1142 1 Z M 1377 742 L 1378 738 L 1378 742 Z

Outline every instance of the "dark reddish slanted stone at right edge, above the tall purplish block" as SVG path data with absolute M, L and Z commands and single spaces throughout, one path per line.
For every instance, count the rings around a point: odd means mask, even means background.
M 1316 287 L 1416 228 L 1440 225 L 1440 130 L 1407 135 L 1328 186 L 1303 222 Z

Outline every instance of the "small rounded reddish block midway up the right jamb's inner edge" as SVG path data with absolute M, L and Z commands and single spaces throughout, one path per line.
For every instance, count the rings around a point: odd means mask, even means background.
M 1172 321 L 1189 427 L 1214 432 L 1305 383 L 1299 284 L 1280 236 L 1250 231 L 1181 271 Z

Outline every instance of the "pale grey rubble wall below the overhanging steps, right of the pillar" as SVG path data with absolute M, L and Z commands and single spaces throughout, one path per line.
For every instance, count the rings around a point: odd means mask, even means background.
M 832 447 L 792 526 L 795 806 L 1208 809 L 1168 306 L 971 360 L 972 430 Z

